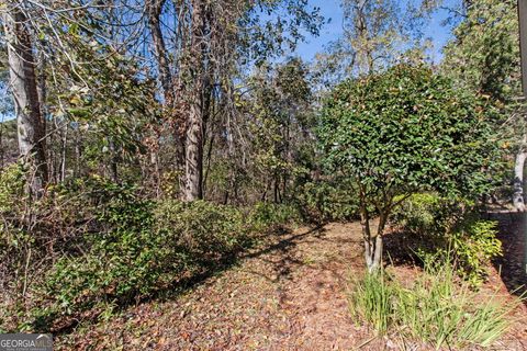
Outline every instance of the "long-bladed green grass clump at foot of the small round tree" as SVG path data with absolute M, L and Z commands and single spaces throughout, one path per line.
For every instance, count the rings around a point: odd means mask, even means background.
M 457 282 L 452 264 L 431 260 L 410 286 L 381 270 L 355 282 L 350 294 L 352 315 L 379 333 L 397 332 L 436 349 L 490 347 L 508 329 L 507 315 L 518 303 L 506 305 L 497 294 L 481 298 Z

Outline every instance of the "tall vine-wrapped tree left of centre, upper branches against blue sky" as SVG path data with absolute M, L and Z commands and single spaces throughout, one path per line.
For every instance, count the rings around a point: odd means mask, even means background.
M 181 197 L 192 201 L 203 196 L 203 148 L 210 137 L 206 125 L 214 117 L 212 109 L 235 106 L 233 84 L 239 79 L 239 68 L 281 53 L 284 44 L 294 46 L 302 36 L 299 26 L 316 34 L 322 20 L 317 11 L 307 12 L 303 0 L 146 3 L 157 58 L 155 70 L 165 97 L 165 121 L 171 121 L 171 140 L 181 155 L 176 158 L 183 178 Z M 281 15 L 262 21 L 261 12 Z

